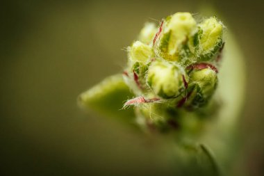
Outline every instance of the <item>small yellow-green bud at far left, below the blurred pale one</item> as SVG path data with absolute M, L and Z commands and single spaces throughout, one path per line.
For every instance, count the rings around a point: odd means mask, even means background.
M 145 63 L 152 56 L 152 49 L 149 45 L 136 41 L 129 47 L 129 54 L 131 61 Z

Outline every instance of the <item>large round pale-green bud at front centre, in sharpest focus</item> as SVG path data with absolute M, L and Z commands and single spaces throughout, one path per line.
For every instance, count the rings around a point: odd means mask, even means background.
M 147 74 L 147 83 L 156 95 L 163 98 L 175 97 L 184 88 L 179 67 L 165 61 L 151 63 Z

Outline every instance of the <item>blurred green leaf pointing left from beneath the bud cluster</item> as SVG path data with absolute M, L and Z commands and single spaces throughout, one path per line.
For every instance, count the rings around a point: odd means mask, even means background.
M 92 109 L 104 115 L 132 120 L 135 117 L 133 109 L 122 109 L 124 102 L 129 97 L 131 98 L 133 95 L 124 83 L 122 74 L 115 74 L 81 93 L 78 102 L 84 109 Z

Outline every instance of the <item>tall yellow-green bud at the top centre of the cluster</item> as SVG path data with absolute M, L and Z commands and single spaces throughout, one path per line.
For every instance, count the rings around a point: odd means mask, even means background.
M 177 61 L 183 45 L 197 31 L 195 19 L 190 13 L 175 13 L 167 17 L 156 43 L 156 54 L 166 60 Z

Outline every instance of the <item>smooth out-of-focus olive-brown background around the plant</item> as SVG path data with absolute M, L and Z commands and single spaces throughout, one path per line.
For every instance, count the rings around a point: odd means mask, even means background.
M 207 5 L 236 34 L 247 65 L 230 175 L 263 175 L 264 15 L 255 0 L 1 1 L 0 175 L 171 175 L 162 138 L 83 113 L 76 97 L 122 71 L 124 47 L 146 21 Z

